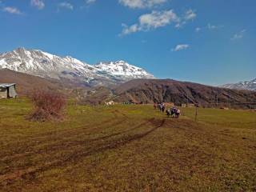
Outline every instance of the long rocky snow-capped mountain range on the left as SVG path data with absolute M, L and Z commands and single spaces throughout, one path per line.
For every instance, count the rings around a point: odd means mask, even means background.
M 95 85 L 126 82 L 134 78 L 154 78 L 152 74 L 124 61 L 100 62 L 90 65 L 70 56 L 58 57 L 42 50 L 16 50 L 0 54 L 0 69 L 9 69 L 42 78 L 79 79 Z M 100 80 L 100 83 L 98 83 Z

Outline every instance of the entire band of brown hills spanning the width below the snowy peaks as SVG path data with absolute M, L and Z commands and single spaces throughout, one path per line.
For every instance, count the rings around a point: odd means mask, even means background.
M 193 82 L 178 82 L 170 79 L 134 79 L 119 86 L 96 87 L 94 89 L 74 82 L 63 82 L 53 78 L 40 78 L 14 70 L 0 70 L 0 82 L 17 83 L 18 94 L 28 95 L 33 90 L 58 90 L 67 97 L 83 102 L 174 102 L 199 103 L 201 106 L 250 108 L 248 102 L 256 101 L 256 92 L 250 90 L 230 90 L 213 86 L 204 86 Z M 240 104 L 239 104 L 240 103 Z

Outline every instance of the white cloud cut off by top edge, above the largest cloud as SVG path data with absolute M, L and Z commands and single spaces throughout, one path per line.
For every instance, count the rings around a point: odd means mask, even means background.
M 164 2 L 167 2 L 167 0 L 119 0 L 119 3 L 121 3 L 123 6 L 128 6 L 132 9 L 153 7 Z

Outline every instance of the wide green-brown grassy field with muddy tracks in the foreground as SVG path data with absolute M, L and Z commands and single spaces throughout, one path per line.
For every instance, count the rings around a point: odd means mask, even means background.
M 74 106 L 29 122 L 0 100 L 1 191 L 256 191 L 256 112 Z

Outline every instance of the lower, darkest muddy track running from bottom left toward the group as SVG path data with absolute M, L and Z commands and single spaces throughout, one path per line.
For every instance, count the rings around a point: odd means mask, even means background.
M 114 150 L 119 147 L 125 146 L 130 142 L 134 142 L 139 139 L 145 138 L 147 135 L 153 133 L 155 130 L 158 130 L 160 127 L 164 126 L 165 122 L 165 119 L 162 119 L 161 121 L 153 120 L 150 121 L 153 128 L 147 130 L 146 132 L 143 132 L 142 134 L 126 135 L 122 138 L 117 138 L 112 141 L 103 141 L 101 143 L 96 144 L 95 146 L 92 146 L 89 150 L 76 150 L 73 153 L 66 155 L 66 157 L 63 157 L 61 160 L 57 159 L 52 162 L 46 162 L 44 166 L 32 166 L 28 167 L 25 170 L 16 170 L 14 171 L 14 173 L 11 174 L 0 175 L 0 186 L 3 185 L 3 182 L 5 182 L 6 185 L 10 185 L 18 178 L 33 179 L 36 177 L 35 175 L 38 172 L 50 170 L 53 169 L 54 167 L 66 166 L 69 165 L 69 163 L 78 162 L 78 160 L 81 158 L 86 158 L 90 155 L 103 153 L 106 150 Z

